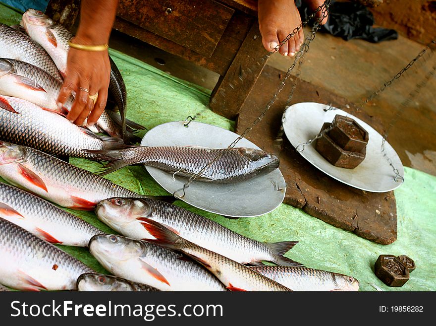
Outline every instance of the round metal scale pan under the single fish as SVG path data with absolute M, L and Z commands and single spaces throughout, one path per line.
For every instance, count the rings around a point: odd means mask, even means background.
M 169 122 L 148 131 L 141 141 L 142 146 L 204 146 L 227 148 L 239 135 L 219 127 L 191 121 Z M 242 138 L 235 147 L 260 149 L 251 141 Z M 146 167 L 150 175 L 169 193 L 180 198 L 183 185 L 188 179 Z M 286 183 L 281 172 L 271 173 L 251 180 L 233 184 L 214 184 L 193 181 L 181 200 L 206 211 L 229 217 L 253 217 L 274 210 L 284 199 Z

